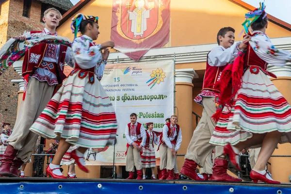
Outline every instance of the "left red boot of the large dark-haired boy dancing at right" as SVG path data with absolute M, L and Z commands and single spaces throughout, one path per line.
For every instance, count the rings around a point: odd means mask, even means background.
M 196 167 L 197 163 L 195 161 L 185 159 L 180 173 L 191 180 L 205 180 L 204 178 L 198 177 Z

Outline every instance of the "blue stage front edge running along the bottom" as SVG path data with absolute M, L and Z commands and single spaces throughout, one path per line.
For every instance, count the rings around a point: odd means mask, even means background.
M 125 179 L 0 178 L 0 194 L 291 194 L 291 184 Z

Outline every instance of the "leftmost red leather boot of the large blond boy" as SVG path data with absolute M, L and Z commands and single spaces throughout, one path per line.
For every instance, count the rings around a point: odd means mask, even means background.
M 18 150 L 14 149 L 13 146 L 8 145 L 6 147 L 3 158 L 1 160 L 2 163 L 0 166 L 0 176 L 11 177 L 10 167 L 13 159 L 16 157 L 17 151 Z

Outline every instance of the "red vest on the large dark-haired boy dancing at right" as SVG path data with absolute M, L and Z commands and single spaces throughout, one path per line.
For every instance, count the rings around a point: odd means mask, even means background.
M 220 92 L 219 85 L 215 83 L 220 80 L 221 73 L 226 68 L 227 64 L 224 66 L 210 66 L 208 64 L 208 54 L 202 90 Z

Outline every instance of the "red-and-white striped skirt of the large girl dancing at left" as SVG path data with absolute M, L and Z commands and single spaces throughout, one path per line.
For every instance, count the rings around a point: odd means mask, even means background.
M 78 74 L 68 76 L 30 130 L 81 147 L 112 145 L 117 130 L 113 105 L 96 75 L 91 84 L 89 74 L 82 79 Z

